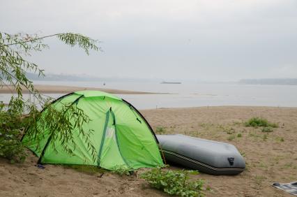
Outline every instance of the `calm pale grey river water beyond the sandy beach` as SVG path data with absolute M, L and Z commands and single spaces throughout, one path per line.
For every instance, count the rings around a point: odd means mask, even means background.
M 130 94 L 119 97 L 139 109 L 183 108 L 218 105 L 297 107 L 296 85 L 237 85 L 237 84 L 160 84 L 159 82 L 43 82 L 40 85 L 69 85 L 78 87 L 102 87 L 144 92 L 172 94 Z M 62 94 L 49 94 L 56 98 Z M 8 102 L 10 94 L 0 94 L 0 101 Z

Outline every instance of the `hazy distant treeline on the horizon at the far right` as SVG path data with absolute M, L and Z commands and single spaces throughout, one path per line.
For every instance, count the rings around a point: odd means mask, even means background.
M 297 78 L 277 78 L 277 79 L 244 79 L 240 84 L 253 85 L 297 85 Z

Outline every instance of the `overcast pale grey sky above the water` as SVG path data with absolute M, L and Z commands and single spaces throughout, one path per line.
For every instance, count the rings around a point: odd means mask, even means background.
M 49 73 L 229 81 L 297 78 L 296 0 L 2 1 L 0 31 L 75 32 L 88 57 L 56 39 L 34 54 Z

